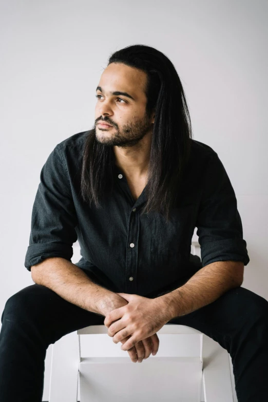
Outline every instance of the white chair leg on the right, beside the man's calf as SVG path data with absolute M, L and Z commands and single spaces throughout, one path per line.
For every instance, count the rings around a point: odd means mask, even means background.
M 233 402 L 229 354 L 218 342 L 203 338 L 203 389 L 205 402 Z

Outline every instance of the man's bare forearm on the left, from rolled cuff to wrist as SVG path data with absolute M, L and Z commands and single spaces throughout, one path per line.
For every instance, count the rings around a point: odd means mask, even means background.
M 31 274 L 35 283 L 46 286 L 63 299 L 98 315 L 106 316 L 117 308 L 119 300 L 121 305 L 124 300 L 117 293 L 94 283 L 83 270 L 64 258 L 46 258 L 31 267 Z

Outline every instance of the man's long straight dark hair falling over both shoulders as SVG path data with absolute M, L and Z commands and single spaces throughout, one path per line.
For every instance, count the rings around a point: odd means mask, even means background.
M 187 164 L 192 125 L 179 75 L 171 61 L 159 50 L 146 45 L 131 45 L 114 52 L 108 61 L 138 68 L 147 74 L 146 115 L 155 109 L 152 129 L 145 203 L 141 213 L 151 210 L 167 220 L 176 204 L 179 184 Z M 81 194 L 85 202 L 101 207 L 100 198 L 112 191 L 114 152 L 112 146 L 95 139 L 89 130 L 83 151 Z

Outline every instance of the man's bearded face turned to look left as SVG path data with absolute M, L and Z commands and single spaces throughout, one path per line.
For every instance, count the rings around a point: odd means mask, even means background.
M 146 96 L 145 72 L 125 64 L 111 63 L 101 75 L 96 91 L 95 138 L 98 142 L 110 145 L 131 147 L 136 145 L 146 134 L 151 135 L 152 118 L 145 116 Z M 101 88 L 101 89 L 100 89 Z M 112 94 L 112 92 L 127 94 Z M 112 127 L 99 126 L 107 123 Z

